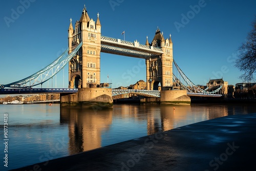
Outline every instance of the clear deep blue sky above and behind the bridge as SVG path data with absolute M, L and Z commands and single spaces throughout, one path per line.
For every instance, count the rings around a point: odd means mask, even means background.
M 252 29 L 256 1 L 13 0 L 0 5 L 0 84 L 35 73 L 67 49 L 70 18 L 74 26 L 84 4 L 95 21 L 99 12 L 102 35 L 123 39 L 121 33 L 125 31 L 125 40 L 145 44 L 146 36 L 152 41 L 157 27 L 164 38 L 172 34 L 174 59 L 195 84 L 205 85 L 209 78 L 221 77 L 229 84 L 241 82 L 233 61 Z M 101 53 L 101 82 L 107 81 L 108 74 L 113 87 L 145 80 L 145 65 L 141 67 L 141 63 L 144 60 Z M 140 72 L 129 76 L 127 71 L 135 66 Z M 68 87 L 67 67 L 64 81 Z M 62 72 L 56 84 L 63 87 Z

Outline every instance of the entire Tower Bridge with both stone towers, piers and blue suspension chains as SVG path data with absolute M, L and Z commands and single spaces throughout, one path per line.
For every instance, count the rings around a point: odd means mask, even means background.
M 222 87 L 212 92 L 200 89 L 186 77 L 173 59 L 173 42 L 171 35 L 164 38 L 158 28 L 151 43 L 146 37 L 145 44 L 139 41 L 126 41 L 101 35 L 99 14 L 96 22 L 89 17 L 86 7 L 83 8 L 79 20 L 68 29 L 68 49 L 46 68 L 15 82 L 1 84 L 1 92 L 5 88 L 30 89 L 41 86 L 55 76 L 63 67 L 69 65 L 69 89 L 77 93 L 62 92 L 61 102 L 104 102 L 112 104 L 113 95 L 124 91 L 99 88 L 100 85 L 100 53 L 145 59 L 147 90 L 127 90 L 148 97 L 161 98 L 161 102 L 189 101 L 187 95 L 215 96 Z M 174 65 L 173 65 L 174 64 Z M 178 71 L 179 76 L 173 73 Z M 183 81 L 182 81 L 183 80 Z M 158 91 L 159 84 L 161 91 Z M 67 91 L 69 91 L 67 89 Z M 127 92 L 126 91 L 126 92 Z M 13 92 L 13 91 L 9 91 Z M 220 96 L 220 95 L 218 95 Z

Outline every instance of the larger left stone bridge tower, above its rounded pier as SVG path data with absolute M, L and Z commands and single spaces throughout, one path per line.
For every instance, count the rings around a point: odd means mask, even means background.
M 82 10 L 75 28 L 68 30 L 69 53 L 82 41 L 82 47 L 69 62 L 69 87 L 70 88 L 96 88 L 100 84 L 100 36 L 101 25 L 99 14 L 95 21 L 88 15 L 86 6 Z

